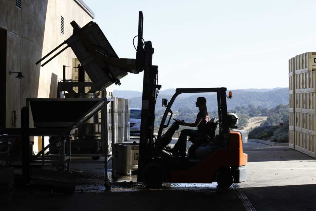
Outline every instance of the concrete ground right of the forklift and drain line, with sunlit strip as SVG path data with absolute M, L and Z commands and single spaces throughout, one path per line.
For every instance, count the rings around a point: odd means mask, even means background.
M 240 187 L 257 210 L 316 210 L 316 159 L 289 147 L 249 141 L 247 181 Z

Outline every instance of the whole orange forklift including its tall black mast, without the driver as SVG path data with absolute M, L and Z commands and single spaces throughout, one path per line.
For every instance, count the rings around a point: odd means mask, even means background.
M 166 110 L 158 135 L 154 136 L 155 104 L 161 85 L 157 83 L 158 66 L 151 65 L 153 53 L 151 42 L 143 43 L 143 14 L 139 12 L 136 69 L 137 72 L 144 71 L 144 78 L 137 181 L 153 188 L 164 182 L 215 181 L 219 188 L 228 188 L 233 183 L 246 181 L 247 154 L 243 153 L 242 144 L 248 137 L 246 131 L 237 130 L 237 115 L 227 112 L 226 97 L 231 98 L 231 92 L 227 96 L 226 88 L 176 89 L 169 103 L 163 99 Z M 169 127 L 172 104 L 182 93 L 216 93 L 219 117 L 210 121 L 210 133 L 204 140 L 189 139 L 195 144 L 185 157 L 173 156 L 167 147 L 181 122 L 174 119 L 172 126 L 162 134 L 162 130 Z M 215 136 L 217 125 L 219 134 Z

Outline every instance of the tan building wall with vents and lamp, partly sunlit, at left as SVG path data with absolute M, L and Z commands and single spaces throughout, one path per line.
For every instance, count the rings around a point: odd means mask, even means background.
M 7 30 L 5 127 L 12 127 L 12 110 L 16 110 L 17 127 L 21 127 L 26 98 L 55 98 L 62 66 L 70 66 L 66 78 L 71 78 L 76 56 L 68 48 L 44 67 L 35 62 L 71 36 L 71 21 L 84 26 L 93 18 L 75 0 L 22 0 L 21 9 L 15 7 L 15 0 L 0 0 L 0 16 L 0 29 Z M 64 34 L 60 31 L 61 16 Z M 21 71 L 25 78 L 15 78 L 9 71 Z M 32 127 L 32 119 L 30 122 Z

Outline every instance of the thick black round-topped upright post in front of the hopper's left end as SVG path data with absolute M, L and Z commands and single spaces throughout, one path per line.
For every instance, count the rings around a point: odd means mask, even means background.
M 22 176 L 24 183 L 30 183 L 30 120 L 27 107 L 21 109 Z

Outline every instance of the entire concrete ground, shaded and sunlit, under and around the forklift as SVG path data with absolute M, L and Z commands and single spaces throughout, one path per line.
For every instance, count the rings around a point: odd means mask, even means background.
M 316 159 L 251 141 L 244 152 L 248 179 L 239 184 L 241 189 L 221 190 L 212 183 L 165 184 L 153 190 L 130 182 L 136 181 L 131 175 L 104 191 L 102 164 L 76 164 L 72 168 L 83 172 L 74 194 L 50 196 L 49 190 L 18 187 L 13 202 L 1 210 L 316 210 Z

